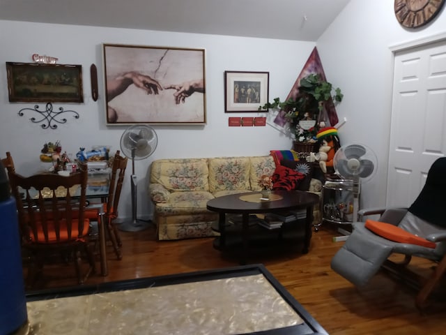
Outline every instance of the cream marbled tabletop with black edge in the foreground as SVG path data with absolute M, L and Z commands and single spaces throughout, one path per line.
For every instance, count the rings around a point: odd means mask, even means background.
M 233 335 L 276 334 L 275 329 L 279 334 L 324 334 L 268 276 L 235 274 L 185 283 L 169 279 L 167 285 L 155 280 L 134 288 L 136 280 L 121 286 L 125 290 L 51 299 L 43 295 L 27 302 L 29 334 Z

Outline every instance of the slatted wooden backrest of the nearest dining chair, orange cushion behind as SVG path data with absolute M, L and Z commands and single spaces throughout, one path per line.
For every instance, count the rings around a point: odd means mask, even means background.
M 24 244 L 72 244 L 88 234 L 89 221 L 84 219 L 87 171 L 69 177 L 8 174 Z

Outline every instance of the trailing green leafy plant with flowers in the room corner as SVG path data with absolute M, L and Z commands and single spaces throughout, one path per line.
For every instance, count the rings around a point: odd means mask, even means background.
M 315 73 L 307 75 L 300 80 L 299 93 L 295 99 L 280 101 L 275 98 L 272 103 L 266 103 L 259 110 L 278 108 L 286 112 L 285 119 L 289 122 L 291 133 L 297 142 L 316 142 L 316 133 L 321 126 L 319 114 L 323 111 L 325 104 L 330 102 L 339 103 L 344 98 L 339 87 L 334 88 L 330 82 L 322 80 Z M 331 103 L 331 102 L 330 102 Z

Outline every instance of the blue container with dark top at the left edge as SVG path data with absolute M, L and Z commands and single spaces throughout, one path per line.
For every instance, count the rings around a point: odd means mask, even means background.
M 26 324 L 19 224 L 15 199 L 10 196 L 8 177 L 0 162 L 0 334 L 12 334 Z

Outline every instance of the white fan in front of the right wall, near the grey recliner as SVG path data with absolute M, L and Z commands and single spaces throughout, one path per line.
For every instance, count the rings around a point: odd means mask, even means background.
M 353 184 L 353 221 L 357 221 L 361 183 L 369 181 L 378 168 L 374 151 L 364 144 L 347 144 L 334 154 L 333 167 L 336 174 Z

